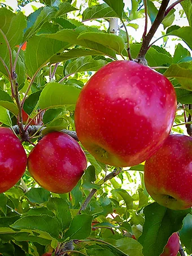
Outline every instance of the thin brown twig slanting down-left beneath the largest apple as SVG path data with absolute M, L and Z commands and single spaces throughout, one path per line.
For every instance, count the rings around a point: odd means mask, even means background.
M 103 183 L 105 183 L 107 180 L 111 180 L 113 177 L 117 176 L 120 172 L 122 172 L 122 168 L 115 168 L 114 171 L 110 172 L 108 175 L 104 177 L 104 179 L 102 180 Z M 95 188 L 91 190 L 88 197 L 86 197 L 84 203 L 82 203 L 80 210 L 78 210 L 77 215 L 81 214 L 81 211 L 84 211 L 86 209 L 86 207 L 88 206 L 88 203 L 90 202 L 91 198 L 94 196 L 96 192 L 97 192 L 97 189 Z

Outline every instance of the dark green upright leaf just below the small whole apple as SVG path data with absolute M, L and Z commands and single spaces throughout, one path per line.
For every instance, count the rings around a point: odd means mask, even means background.
M 63 198 L 49 198 L 47 208 L 54 212 L 62 231 L 69 227 L 72 216 L 69 210 L 69 204 Z

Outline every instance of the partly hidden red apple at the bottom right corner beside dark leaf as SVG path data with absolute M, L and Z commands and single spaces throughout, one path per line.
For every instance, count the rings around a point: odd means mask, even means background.
M 177 256 L 180 249 L 180 238 L 177 233 L 173 233 L 165 245 L 164 251 L 160 256 Z

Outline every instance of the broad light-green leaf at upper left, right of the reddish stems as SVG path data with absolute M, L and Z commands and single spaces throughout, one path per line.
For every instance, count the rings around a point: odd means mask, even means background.
M 30 38 L 25 51 L 25 64 L 28 75 L 32 77 L 34 73 L 45 66 L 45 64 L 49 62 L 49 59 L 58 53 L 59 50 L 68 46 L 69 44 L 67 43 L 43 36 L 33 36 Z

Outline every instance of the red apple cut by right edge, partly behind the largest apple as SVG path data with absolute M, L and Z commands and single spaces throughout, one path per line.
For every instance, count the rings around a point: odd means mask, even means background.
M 192 137 L 171 134 L 160 149 L 146 160 L 147 192 L 160 205 L 172 210 L 192 206 Z

